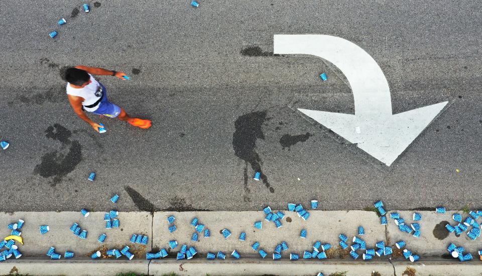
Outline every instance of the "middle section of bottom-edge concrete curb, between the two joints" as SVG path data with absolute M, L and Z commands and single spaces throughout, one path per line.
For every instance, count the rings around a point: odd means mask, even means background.
M 177 275 L 199 276 L 209 274 L 211 276 L 251 276 L 251 275 L 316 275 L 322 272 L 330 275 L 335 272 L 345 272 L 345 276 L 370 276 L 372 271 L 377 271 L 380 276 L 393 276 L 394 269 L 388 261 L 234 261 L 234 260 L 212 260 L 212 261 L 165 261 L 153 260 L 149 265 L 151 275 L 163 275 L 175 272 Z M 399 274 L 397 274 L 399 275 Z M 402 275 L 402 274 L 400 274 Z M 417 274 L 418 276 L 418 274 Z

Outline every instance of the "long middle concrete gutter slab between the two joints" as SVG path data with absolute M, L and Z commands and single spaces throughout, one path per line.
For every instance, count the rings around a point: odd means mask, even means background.
M 182 244 L 194 245 L 198 252 L 205 257 L 206 252 L 223 251 L 226 258 L 232 258 L 231 252 L 235 249 L 242 257 L 253 256 L 261 258 L 253 250 L 251 245 L 255 241 L 260 242 L 260 248 L 268 252 L 267 258 L 272 258 L 272 253 L 277 244 L 282 241 L 288 243 L 289 249 L 283 251 L 283 258 L 289 258 L 291 252 L 303 254 L 304 250 L 313 251 L 313 243 L 317 240 L 322 243 L 330 243 L 332 248 L 338 248 L 338 235 L 344 233 L 352 238 L 357 233 L 359 225 L 365 225 L 366 235 L 363 237 L 368 248 L 374 247 L 375 243 L 385 240 L 385 226 L 381 225 L 375 212 L 369 211 L 309 211 L 311 216 L 304 221 L 296 212 L 283 210 L 285 217 L 282 219 L 283 226 L 276 228 L 273 222 L 265 220 L 263 211 L 244 212 L 156 212 L 154 213 L 153 232 L 154 247 L 169 248 L 169 240 L 177 240 L 179 245 L 173 252 L 179 251 Z M 177 230 L 169 233 L 167 217 L 174 215 L 174 224 Z M 190 241 L 195 232 L 190 225 L 196 217 L 198 223 L 204 224 L 211 232 L 211 237 L 204 238 L 203 233 L 198 233 L 199 241 Z M 256 221 L 263 222 L 263 228 L 254 227 Z M 291 222 L 289 222 L 291 221 Z M 224 239 L 220 231 L 227 228 L 231 236 Z M 302 229 L 307 230 L 307 237 L 300 238 Z M 238 239 L 241 232 L 246 232 L 246 241 Z M 174 255 L 174 253 L 173 253 Z

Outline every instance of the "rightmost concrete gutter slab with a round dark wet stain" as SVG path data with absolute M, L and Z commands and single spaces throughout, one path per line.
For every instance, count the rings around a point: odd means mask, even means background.
M 448 244 L 453 242 L 457 246 L 464 246 L 467 252 L 470 252 L 474 257 L 477 257 L 477 251 L 482 249 L 480 247 L 480 239 L 471 240 L 466 233 L 462 233 L 459 237 L 454 233 L 448 233 L 445 225 L 450 223 L 452 225 L 458 224 L 452 219 L 452 214 L 462 214 L 463 220 L 468 214 L 463 214 L 457 211 L 447 211 L 444 214 L 436 213 L 435 211 L 416 211 L 422 215 L 421 221 L 416 221 L 421 226 L 420 237 L 416 238 L 412 234 L 402 232 L 398 229 L 394 219 L 390 218 L 390 213 L 397 212 L 402 218 L 405 219 L 405 224 L 410 226 L 413 223 L 412 215 L 414 211 L 390 211 L 387 213 L 388 219 L 388 238 L 393 243 L 404 240 L 407 243 L 407 248 L 412 251 L 413 254 L 424 257 L 442 257 L 449 252 L 446 250 Z M 462 221 L 463 221 L 462 220 Z M 477 221 L 480 222 L 480 219 Z M 467 230 L 470 230 L 469 227 Z M 402 257 L 403 258 L 403 257 Z

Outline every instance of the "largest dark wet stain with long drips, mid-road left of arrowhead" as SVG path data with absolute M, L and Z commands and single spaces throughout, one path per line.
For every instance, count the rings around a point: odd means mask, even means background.
M 255 172 L 261 173 L 261 180 L 270 192 L 275 189 L 268 182 L 268 177 L 261 170 L 261 158 L 255 151 L 256 140 L 265 139 L 263 134 L 263 123 L 267 120 L 266 111 L 251 112 L 239 116 L 234 122 L 235 131 L 232 134 L 232 148 L 234 155 L 251 164 Z

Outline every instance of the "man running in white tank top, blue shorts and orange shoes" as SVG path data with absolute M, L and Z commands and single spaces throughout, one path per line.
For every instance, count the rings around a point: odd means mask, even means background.
M 150 120 L 130 117 L 122 107 L 109 102 L 105 87 L 92 75 L 115 76 L 124 80 L 126 80 L 124 77 L 127 77 L 123 72 L 82 65 L 67 69 L 65 72 L 67 97 L 77 116 L 90 124 L 96 131 L 99 131 L 99 127 L 102 125 L 90 120 L 84 110 L 111 118 L 117 117 L 119 120 L 127 121 L 140 128 L 151 127 Z

